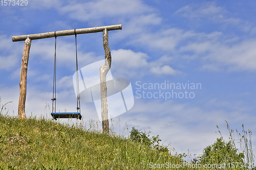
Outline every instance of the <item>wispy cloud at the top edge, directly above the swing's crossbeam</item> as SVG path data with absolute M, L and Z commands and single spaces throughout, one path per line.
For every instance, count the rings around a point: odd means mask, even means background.
M 153 11 L 153 8 L 137 0 L 98 0 L 87 3 L 72 2 L 66 6 L 62 6 L 59 11 L 63 14 L 67 13 L 73 19 L 91 21 L 106 17 L 127 17 L 127 15 L 143 14 L 144 12 Z

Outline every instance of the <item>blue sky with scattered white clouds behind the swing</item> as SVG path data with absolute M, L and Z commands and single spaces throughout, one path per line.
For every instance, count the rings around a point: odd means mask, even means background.
M 200 154 L 230 128 L 256 130 L 255 1 L 60 1 L 28 0 L 27 6 L 0 4 L 0 96 L 17 115 L 24 42 L 11 37 L 69 29 L 122 25 L 109 32 L 113 77 L 131 81 L 134 107 L 114 118 L 117 133 L 126 124 L 160 135 L 178 153 Z M 102 33 L 77 36 L 79 67 L 104 59 Z M 72 76 L 75 38 L 57 38 L 57 110 L 74 111 Z M 54 38 L 32 40 L 26 114 L 46 116 L 51 107 Z M 200 83 L 194 98 L 140 98 L 137 84 Z M 137 82 L 137 84 L 136 84 Z M 138 90 L 141 90 L 138 91 Z M 144 89 L 148 95 L 159 89 Z M 171 90 L 162 90 L 172 92 Z M 184 93 L 184 89 L 174 92 Z M 141 93 L 142 94 L 142 93 Z M 98 121 L 93 103 L 82 103 L 84 123 Z M 61 120 L 64 122 L 64 120 Z M 119 129 L 120 126 L 120 129 Z M 253 150 L 256 138 L 252 135 Z

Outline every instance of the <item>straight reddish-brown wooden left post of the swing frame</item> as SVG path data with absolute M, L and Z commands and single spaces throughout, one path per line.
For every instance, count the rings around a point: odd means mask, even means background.
M 27 94 L 27 72 L 30 46 L 31 39 L 28 36 L 28 38 L 25 40 L 24 51 L 22 56 L 22 67 L 20 69 L 18 118 L 27 118 L 25 113 L 25 103 Z

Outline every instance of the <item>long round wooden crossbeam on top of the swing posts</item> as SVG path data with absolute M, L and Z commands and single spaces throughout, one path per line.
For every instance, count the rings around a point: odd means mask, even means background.
M 122 25 L 113 25 L 113 26 L 105 26 L 108 31 L 112 30 L 122 30 Z M 85 29 L 76 29 L 76 34 L 88 34 L 88 33 L 97 33 L 102 32 L 105 30 L 105 27 L 94 27 L 94 28 L 85 28 Z M 52 37 L 60 37 L 60 36 L 67 36 L 67 35 L 75 35 L 75 30 L 65 30 L 65 31 L 56 31 L 48 32 L 48 33 L 41 33 L 41 34 L 31 34 L 31 35 L 19 35 L 13 36 L 12 41 L 25 41 L 28 36 L 31 40 L 33 39 L 43 39 L 43 38 L 52 38 Z

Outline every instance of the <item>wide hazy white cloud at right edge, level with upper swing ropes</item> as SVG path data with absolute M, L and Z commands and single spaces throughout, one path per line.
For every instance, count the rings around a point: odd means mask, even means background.
M 225 42 L 203 41 L 189 43 L 180 48 L 184 52 L 193 52 L 203 61 L 202 69 L 228 71 L 256 70 L 255 39 L 228 44 Z

